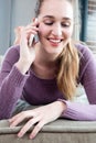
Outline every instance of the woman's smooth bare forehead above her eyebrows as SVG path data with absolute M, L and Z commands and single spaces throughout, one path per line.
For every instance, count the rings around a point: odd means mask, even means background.
M 45 0 L 40 15 L 53 15 L 73 19 L 73 7 L 66 0 Z

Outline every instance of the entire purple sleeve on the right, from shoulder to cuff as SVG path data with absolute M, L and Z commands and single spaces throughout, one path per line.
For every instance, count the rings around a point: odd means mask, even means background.
M 96 121 L 96 59 L 87 47 L 83 47 L 81 52 L 83 57 L 79 67 L 79 82 L 85 88 L 89 105 L 62 100 L 67 107 L 62 117 L 72 120 Z

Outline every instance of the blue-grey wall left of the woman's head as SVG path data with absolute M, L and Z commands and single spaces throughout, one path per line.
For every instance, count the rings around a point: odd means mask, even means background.
M 0 0 L 0 54 L 13 44 L 14 28 L 29 24 L 36 0 Z

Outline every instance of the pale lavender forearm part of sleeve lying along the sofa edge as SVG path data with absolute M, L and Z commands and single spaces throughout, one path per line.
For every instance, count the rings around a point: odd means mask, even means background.
M 77 121 L 96 121 L 96 105 L 84 105 L 61 100 L 66 103 L 66 110 L 62 113 L 62 118 Z

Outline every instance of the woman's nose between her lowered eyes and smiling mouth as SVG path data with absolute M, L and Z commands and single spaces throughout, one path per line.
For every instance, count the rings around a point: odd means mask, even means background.
M 61 28 L 60 24 L 53 25 L 52 34 L 55 35 L 55 36 L 61 36 L 62 35 L 62 28 Z

